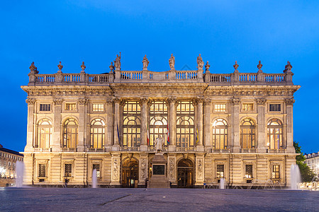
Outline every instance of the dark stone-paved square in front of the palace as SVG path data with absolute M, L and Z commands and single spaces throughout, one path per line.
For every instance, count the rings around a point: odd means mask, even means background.
M 5 187 L 0 211 L 319 211 L 319 192 Z

